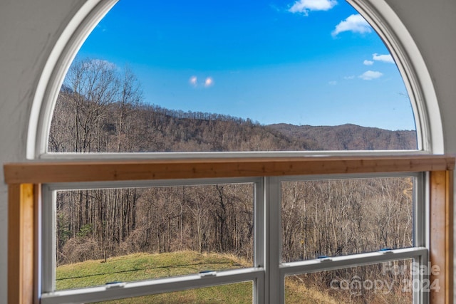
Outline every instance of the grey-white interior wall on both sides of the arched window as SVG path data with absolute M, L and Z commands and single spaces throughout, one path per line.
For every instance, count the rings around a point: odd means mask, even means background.
M 43 66 L 86 0 L 0 1 L 0 164 L 26 160 L 28 119 Z M 343 0 L 340 0 L 343 1 Z M 415 39 L 442 115 L 445 152 L 456 154 L 456 1 L 385 0 Z M 7 189 L 0 167 L 0 304 L 6 303 Z

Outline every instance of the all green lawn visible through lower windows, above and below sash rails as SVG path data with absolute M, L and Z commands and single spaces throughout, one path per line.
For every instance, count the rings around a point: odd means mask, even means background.
M 194 251 L 177 253 L 135 253 L 129 256 L 86 261 L 60 266 L 56 269 L 56 289 L 83 288 L 109 282 L 140 281 L 250 267 L 251 263 L 235 256 L 217 253 L 200 254 Z M 252 282 L 234 283 L 160 295 L 106 301 L 103 303 L 252 303 Z M 287 303 L 338 303 L 326 293 L 301 285 L 286 284 Z

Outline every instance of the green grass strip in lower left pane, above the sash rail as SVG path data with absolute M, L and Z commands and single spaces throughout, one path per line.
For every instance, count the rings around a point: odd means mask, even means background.
M 98 260 L 60 266 L 56 269 L 56 289 L 184 276 L 200 271 L 224 271 L 251 266 L 252 264 L 234 256 L 217 253 L 200 254 L 194 251 L 134 253 L 129 256 L 108 258 L 106 263 Z

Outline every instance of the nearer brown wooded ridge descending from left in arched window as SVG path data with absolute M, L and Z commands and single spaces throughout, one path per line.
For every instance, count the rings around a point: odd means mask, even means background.
M 49 137 L 50 152 L 221 152 L 315 150 L 250 120 L 167 110 L 138 103 L 110 104 L 76 116 L 72 96 L 61 93 Z M 91 105 L 87 105 L 90 110 Z M 83 114 L 85 115 L 85 114 Z M 95 117 L 98 115 L 98 117 Z M 88 122 L 87 119 L 93 120 Z M 75 127 L 78 126 L 78 127 Z M 80 129 L 78 133 L 76 129 Z

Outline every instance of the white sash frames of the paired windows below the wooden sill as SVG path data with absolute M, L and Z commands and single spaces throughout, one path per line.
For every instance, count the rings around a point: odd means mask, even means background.
M 337 256 L 331 261 L 308 260 L 281 263 L 281 182 L 318 179 L 353 179 L 375 177 L 414 177 L 414 243 L 415 247 L 400 248 L 383 253 L 358 253 Z M 202 278 L 199 274 L 160 278 L 155 280 L 128 282 L 123 287 L 107 288 L 96 286 L 76 290 L 55 290 L 56 234 L 55 199 L 57 190 L 69 189 L 113 189 L 120 187 L 172 187 L 204 184 L 254 183 L 254 267 L 217 273 L 217 276 Z M 328 174 L 317 176 L 252 177 L 225 179 L 175 179 L 128 182 L 78 182 L 43 184 L 41 239 L 41 302 L 61 303 L 66 301 L 84 302 L 89 300 L 109 300 L 113 298 L 151 295 L 168 291 L 207 287 L 224 283 L 254 282 L 254 303 L 284 303 L 284 278 L 289 274 L 325 271 L 348 268 L 383 261 L 413 258 L 419 263 L 427 263 L 427 210 L 425 192 L 427 178 L 420 173 L 384 174 Z M 49 204 L 53 201 L 54 204 Z M 422 278 L 421 278 L 422 279 Z M 415 291 L 414 303 L 425 303 L 426 297 Z

